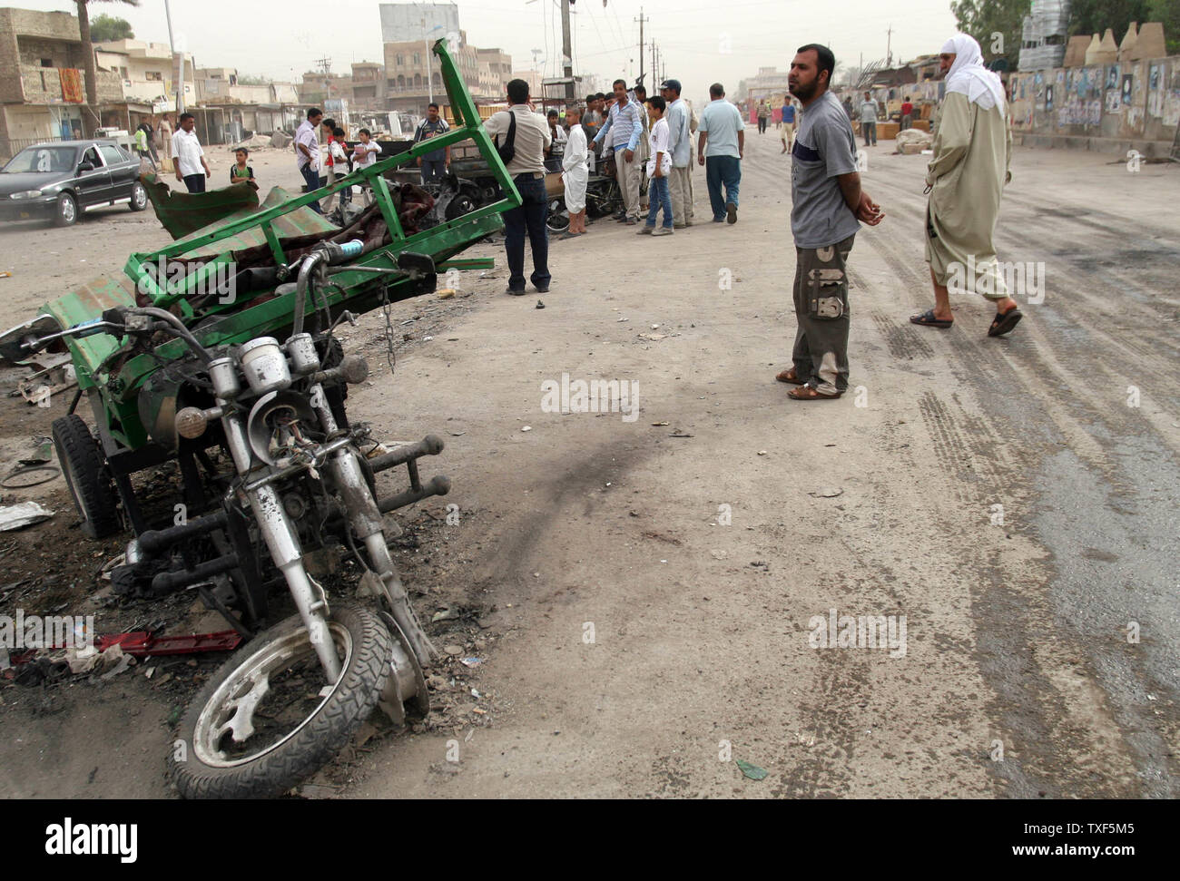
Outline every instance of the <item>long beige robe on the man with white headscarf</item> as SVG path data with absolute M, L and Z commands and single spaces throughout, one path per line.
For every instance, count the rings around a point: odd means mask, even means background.
M 1011 179 L 1008 119 L 998 106 L 983 110 L 965 94 L 949 92 L 933 151 L 926 171 L 926 185 L 933 186 L 926 206 L 926 262 L 939 284 L 1003 300 L 1008 285 L 992 236 L 999 197 Z

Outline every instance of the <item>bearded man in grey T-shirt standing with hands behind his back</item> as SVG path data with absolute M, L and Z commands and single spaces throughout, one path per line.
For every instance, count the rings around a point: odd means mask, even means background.
M 857 136 L 828 91 L 835 58 L 827 46 L 801 46 L 787 83 L 802 103 L 791 170 L 791 231 L 795 239 L 793 366 L 776 380 L 799 386 L 796 401 L 839 397 L 848 387 L 846 264 L 860 229 L 884 215 L 860 189 Z

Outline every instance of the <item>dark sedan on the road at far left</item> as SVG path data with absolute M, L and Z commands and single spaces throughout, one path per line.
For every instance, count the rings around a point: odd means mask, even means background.
M 0 221 L 78 222 L 83 211 L 129 203 L 148 206 L 139 159 L 113 140 L 58 140 L 17 153 L 0 170 Z

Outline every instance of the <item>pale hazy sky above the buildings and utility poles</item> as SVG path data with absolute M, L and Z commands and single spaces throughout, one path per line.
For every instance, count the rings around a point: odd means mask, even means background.
M 76 8 L 70 0 L 0 0 L 0 5 Z M 505 50 L 520 70 L 532 66 L 531 51 L 539 50 L 538 66 L 545 75 L 559 74 L 557 0 L 465 0 L 458 6 L 459 24 L 471 44 Z M 826 42 L 841 66 L 854 67 L 861 53 L 865 61 L 885 57 L 891 25 L 894 60 L 938 52 L 956 29 L 950 0 L 608 0 L 605 7 L 603 0 L 577 0 L 576 73 L 634 78 L 640 72 L 635 19 L 641 6 L 651 19 L 644 25 L 644 39 L 656 40 L 668 75 L 681 79 L 690 98 L 703 97 L 715 80 L 733 96 L 738 80 L 760 66 L 789 67 L 794 50 L 805 42 Z M 186 44 L 198 66 L 236 67 L 287 80 L 301 78 L 322 57 L 345 73 L 353 61 L 384 60 L 375 0 L 172 0 L 171 7 L 177 40 Z M 91 4 L 91 15 L 100 13 L 127 19 L 137 39 L 168 42 L 164 0 L 140 0 L 139 8 Z M 650 48 L 644 54 L 647 70 Z

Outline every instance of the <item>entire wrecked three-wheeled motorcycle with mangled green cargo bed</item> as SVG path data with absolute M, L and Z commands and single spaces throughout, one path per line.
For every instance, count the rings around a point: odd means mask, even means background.
M 135 532 L 112 572 L 116 590 L 194 590 L 249 639 L 181 723 L 170 764 L 186 797 L 278 795 L 335 755 L 374 708 L 395 721 L 407 706 L 428 709 L 424 669 L 435 653 L 384 517 L 450 491 L 447 478 L 418 472 L 442 442 L 427 435 L 387 449 L 349 420 L 348 387 L 368 366 L 345 353 L 335 330 L 433 291 L 438 271 L 490 265 L 455 255 L 503 230 L 499 213 L 520 204 L 444 41 L 434 53 L 461 123 L 441 145 L 471 138 L 504 198 L 420 225 L 433 199 L 384 177 L 421 152 L 411 150 L 327 190 L 273 192 L 257 212 L 132 255 L 135 285 L 96 280 L 0 335 L 9 360 L 46 348 L 73 360 L 79 392 L 53 438 L 83 530 Z M 346 229 L 307 209 L 333 186 L 361 182 L 375 202 Z M 202 288 L 227 268 L 232 296 Z M 388 313 L 386 324 L 388 334 Z M 97 439 L 76 413 L 83 395 Z M 183 501 L 160 522 L 132 476 L 169 461 Z M 400 466 L 408 487 L 382 497 L 376 476 Z M 333 574 L 341 555 L 361 573 L 356 584 Z M 273 590 L 296 611 L 278 623 Z

